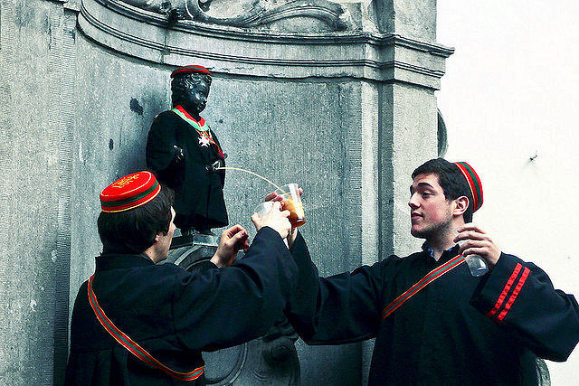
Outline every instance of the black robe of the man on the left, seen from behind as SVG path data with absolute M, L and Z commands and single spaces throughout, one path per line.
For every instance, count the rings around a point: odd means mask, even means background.
M 190 273 L 143 255 L 101 255 L 93 291 L 109 319 L 177 372 L 204 365 L 201 351 L 242 344 L 273 325 L 295 284 L 297 268 L 280 235 L 265 227 L 229 268 Z M 203 384 L 203 376 L 197 384 Z M 90 308 L 87 282 L 71 320 L 67 385 L 168 385 L 176 381 L 118 344 Z

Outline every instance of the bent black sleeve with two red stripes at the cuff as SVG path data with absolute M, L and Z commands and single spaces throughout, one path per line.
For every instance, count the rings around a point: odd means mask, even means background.
M 537 356 L 565 361 L 579 341 L 579 307 L 533 263 L 501 253 L 470 303 Z

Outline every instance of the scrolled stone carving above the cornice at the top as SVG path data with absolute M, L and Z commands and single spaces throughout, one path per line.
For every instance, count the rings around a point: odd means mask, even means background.
M 345 31 L 342 5 L 328 0 L 124 0 L 147 11 L 205 24 L 285 32 Z

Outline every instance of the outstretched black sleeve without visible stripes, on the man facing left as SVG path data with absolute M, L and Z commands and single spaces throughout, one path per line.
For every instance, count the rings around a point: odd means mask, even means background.
M 285 312 L 307 344 L 344 344 L 377 334 L 384 261 L 351 273 L 318 278 L 318 268 L 300 234 L 291 254 L 299 274 Z

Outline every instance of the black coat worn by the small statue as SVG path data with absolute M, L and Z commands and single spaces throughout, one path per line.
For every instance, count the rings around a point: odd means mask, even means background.
M 214 132 L 209 130 L 217 146 Z M 223 184 L 225 173 L 210 173 L 205 166 L 219 161 L 225 165 L 215 145 L 203 145 L 194 127 L 173 111 L 164 111 L 155 118 L 148 133 L 147 167 L 158 180 L 176 191 L 176 226 L 196 229 L 220 228 L 229 223 Z M 176 163 L 175 148 L 181 147 L 185 159 Z

